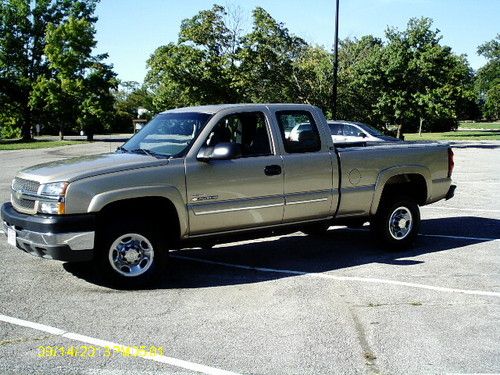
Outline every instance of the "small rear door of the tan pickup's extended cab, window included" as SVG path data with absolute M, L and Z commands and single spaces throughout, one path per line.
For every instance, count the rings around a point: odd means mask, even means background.
M 276 111 L 275 119 L 283 146 L 284 222 L 331 216 L 338 200 L 338 173 L 331 141 L 322 142 L 330 137 L 329 129 L 318 128 L 319 119 L 307 110 Z M 310 127 L 304 127 L 297 138 L 285 136 L 289 129 L 304 123 Z

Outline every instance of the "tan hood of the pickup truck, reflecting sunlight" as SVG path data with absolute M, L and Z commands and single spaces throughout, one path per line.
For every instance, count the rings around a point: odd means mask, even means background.
M 53 161 L 38 164 L 18 173 L 18 177 L 48 182 L 72 182 L 82 178 L 168 164 L 168 159 L 157 159 L 142 154 L 111 153 Z

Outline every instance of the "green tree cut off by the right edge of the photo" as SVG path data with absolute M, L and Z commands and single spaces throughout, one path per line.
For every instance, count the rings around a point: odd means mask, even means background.
M 480 45 L 478 54 L 488 59 L 479 69 L 476 91 L 482 105 L 483 115 L 488 119 L 500 118 L 500 34 L 495 39 Z

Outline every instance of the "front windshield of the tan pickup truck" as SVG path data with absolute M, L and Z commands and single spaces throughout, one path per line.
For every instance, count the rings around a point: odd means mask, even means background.
M 162 157 L 185 155 L 210 117 L 198 112 L 161 113 L 119 150 Z

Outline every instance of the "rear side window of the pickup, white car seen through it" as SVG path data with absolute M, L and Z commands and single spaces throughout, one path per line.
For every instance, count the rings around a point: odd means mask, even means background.
M 318 128 L 307 111 L 276 112 L 285 151 L 289 154 L 321 149 Z

